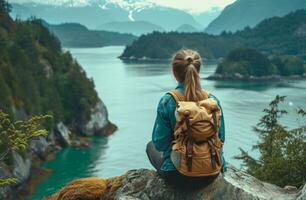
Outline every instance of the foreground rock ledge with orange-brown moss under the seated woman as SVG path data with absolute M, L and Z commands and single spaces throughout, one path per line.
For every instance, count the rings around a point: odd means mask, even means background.
M 249 174 L 230 166 L 224 175 L 205 187 L 189 186 L 178 189 L 165 183 L 155 171 L 148 169 L 131 170 L 110 179 L 84 178 L 72 181 L 61 191 L 46 200 L 305 200 L 304 188 L 280 188 L 262 182 Z

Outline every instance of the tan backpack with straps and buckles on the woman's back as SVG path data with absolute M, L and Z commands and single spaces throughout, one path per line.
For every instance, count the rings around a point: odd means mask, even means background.
M 199 102 L 184 101 L 177 90 L 169 92 L 177 103 L 176 125 L 171 160 L 176 169 L 186 176 L 212 176 L 222 168 L 223 143 L 218 136 L 221 110 L 217 102 L 208 98 Z

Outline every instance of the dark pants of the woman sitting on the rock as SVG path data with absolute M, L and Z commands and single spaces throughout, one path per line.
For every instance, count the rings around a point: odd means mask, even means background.
M 148 158 L 157 170 L 157 173 L 169 184 L 172 184 L 177 187 L 184 187 L 186 189 L 196 189 L 197 187 L 205 187 L 212 183 L 218 175 L 215 176 L 206 176 L 206 177 L 190 177 L 180 174 L 177 170 L 172 171 L 163 171 L 161 166 L 164 162 L 161 152 L 157 151 L 153 142 L 147 144 L 146 149 Z

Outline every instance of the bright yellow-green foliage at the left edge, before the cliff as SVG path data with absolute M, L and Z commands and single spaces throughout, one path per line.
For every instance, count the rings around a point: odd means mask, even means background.
M 12 151 L 24 152 L 32 139 L 46 137 L 48 132 L 41 124 L 51 116 L 36 116 L 25 121 L 12 122 L 0 110 L 0 162 L 6 161 Z M 0 177 L 0 187 L 14 184 L 15 178 Z

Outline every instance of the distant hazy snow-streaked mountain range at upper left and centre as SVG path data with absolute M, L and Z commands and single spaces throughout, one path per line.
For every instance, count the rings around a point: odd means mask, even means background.
M 167 31 L 175 30 L 181 24 L 201 28 L 201 25 L 187 12 L 145 0 L 33 0 L 30 3 L 13 3 L 12 6 L 13 17 L 27 19 L 36 16 L 51 24 L 80 23 L 89 29 L 96 29 L 106 23 L 127 21 L 145 21 Z M 145 30 L 147 23 L 142 23 Z

